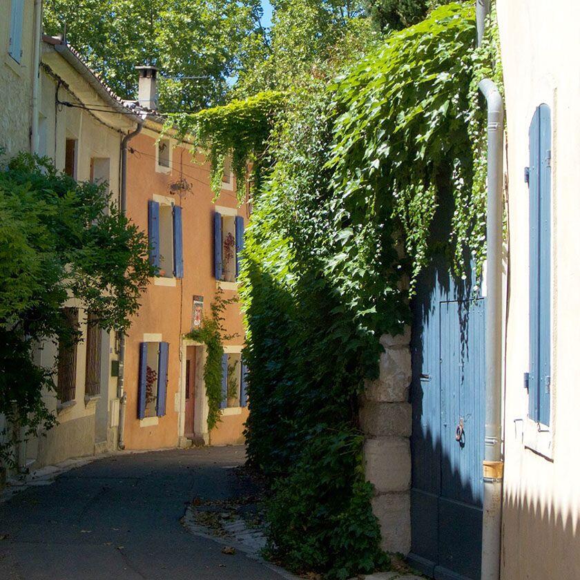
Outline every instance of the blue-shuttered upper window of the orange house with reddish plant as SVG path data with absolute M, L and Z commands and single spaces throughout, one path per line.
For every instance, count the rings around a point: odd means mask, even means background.
M 215 279 L 235 282 L 240 273 L 240 253 L 244 247 L 244 218 L 216 212 L 213 226 Z

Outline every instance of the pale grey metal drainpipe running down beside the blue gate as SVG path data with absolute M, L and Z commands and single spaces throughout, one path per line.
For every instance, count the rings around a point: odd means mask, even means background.
M 483 39 L 488 0 L 476 0 L 478 46 Z M 503 99 L 494 81 L 479 90 L 487 101 L 487 300 L 485 305 L 485 451 L 481 580 L 499 580 L 501 559 L 502 229 Z

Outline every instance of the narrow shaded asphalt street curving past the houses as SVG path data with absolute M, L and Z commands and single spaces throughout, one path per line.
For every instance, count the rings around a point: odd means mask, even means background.
M 180 523 L 195 497 L 243 492 L 243 461 L 244 447 L 128 454 L 28 487 L 0 504 L 0 579 L 279 579 Z

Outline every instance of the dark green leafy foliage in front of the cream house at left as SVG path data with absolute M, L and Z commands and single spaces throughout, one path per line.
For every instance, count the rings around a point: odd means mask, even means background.
M 101 328 L 126 330 L 153 275 L 148 241 L 104 186 L 19 155 L 0 172 L 0 262 L 0 414 L 32 435 L 55 423 L 42 399 L 55 369 L 33 352 L 44 340 L 80 340 L 62 316 L 69 299 Z M 10 449 L 0 456 L 10 460 Z

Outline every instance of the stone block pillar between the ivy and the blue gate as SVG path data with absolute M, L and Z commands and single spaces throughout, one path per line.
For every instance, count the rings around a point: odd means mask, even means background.
M 380 522 L 387 552 L 411 549 L 411 436 L 409 403 L 411 331 L 383 335 L 380 374 L 368 381 L 360 400 L 360 425 L 365 432 L 365 474 L 375 487 L 373 512 Z

